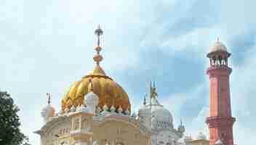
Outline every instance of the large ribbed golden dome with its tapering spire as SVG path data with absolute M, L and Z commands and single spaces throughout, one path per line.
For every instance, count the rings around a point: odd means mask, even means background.
M 93 92 L 97 94 L 99 97 L 98 106 L 103 109 L 105 104 L 108 107 L 111 107 L 112 104 L 114 107 L 122 107 L 123 110 L 131 108 L 129 103 L 129 97 L 124 91 L 124 89 L 119 86 L 112 78 L 105 75 L 105 72 L 102 67 L 100 67 L 100 61 L 103 59 L 100 56 L 100 50 L 98 46 L 95 48 L 97 51 L 96 57 L 100 57 L 100 59 L 95 59 L 97 65 L 92 73 L 84 76 L 81 80 L 76 81 L 68 88 L 68 91 L 64 95 L 63 100 L 61 101 L 62 110 L 70 109 L 72 106 L 76 107 L 78 105 L 84 104 L 84 96 L 89 93 L 89 83 L 92 80 Z

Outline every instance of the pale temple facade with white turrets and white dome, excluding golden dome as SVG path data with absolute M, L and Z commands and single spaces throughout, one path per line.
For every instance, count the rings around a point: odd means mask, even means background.
M 136 141 L 140 142 L 140 136 L 142 136 L 144 142 L 140 143 L 140 145 L 188 145 L 189 141 L 192 140 L 191 136 L 183 136 L 185 133 L 184 125 L 181 124 L 177 129 L 174 128 L 171 112 L 165 109 L 156 97 L 152 98 L 151 102 L 144 102 L 136 115 L 130 115 L 127 111 L 121 111 L 120 107 L 118 109 L 113 106 L 111 108 L 97 108 L 97 95 L 93 93 L 87 94 L 87 99 L 90 99 L 90 101 L 87 101 L 87 104 L 82 104 L 80 107 L 71 107 L 71 109 L 55 115 L 50 115 L 52 112 L 48 112 L 48 115 L 45 110 L 49 109 L 44 107 L 42 116 L 46 122 L 40 130 L 36 131 L 41 136 L 41 145 L 124 145 L 129 142 L 125 141 L 125 139 L 131 138 L 131 136 L 134 136 L 134 138 L 127 140 L 133 140 L 132 144 L 136 144 Z M 91 121 L 84 119 L 87 116 L 92 117 Z M 121 126 L 124 126 L 124 128 L 115 129 L 116 124 L 113 123 L 115 121 L 121 123 Z M 100 125 L 108 122 L 112 123 L 111 127 L 108 127 L 108 130 L 100 130 Z M 126 131 L 129 132 L 129 129 L 125 131 L 127 126 L 132 126 L 132 128 L 138 130 L 137 134 L 134 135 L 132 131 L 132 135 L 125 133 Z M 116 138 L 100 138 L 99 133 L 101 131 L 108 135 L 116 131 Z M 81 136 L 79 136 L 79 133 Z M 127 135 L 121 136 L 121 133 Z M 77 141 L 71 139 L 73 134 L 75 138 L 79 138 Z M 203 134 L 199 134 L 199 136 L 204 138 Z M 84 141 L 83 138 L 87 141 Z M 131 144 L 131 142 L 128 144 Z

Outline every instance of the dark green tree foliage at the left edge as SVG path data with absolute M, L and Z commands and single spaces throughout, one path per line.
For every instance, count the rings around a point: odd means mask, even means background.
M 0 91 L 0 144 L 29 145 L 28 138 L 20 131 L 19 108 L 7 92 Z

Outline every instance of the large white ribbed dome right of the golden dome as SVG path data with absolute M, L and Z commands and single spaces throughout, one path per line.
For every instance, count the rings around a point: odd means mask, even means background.
M 168 109 L 160 105 L 152 105 L 152 128 L 164 129 L 173 128 L 172 114 Z

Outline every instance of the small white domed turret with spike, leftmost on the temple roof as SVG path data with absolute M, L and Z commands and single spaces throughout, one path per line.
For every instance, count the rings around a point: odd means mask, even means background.
M 43 109 L 41 110 L 41 116 L 44 118 L 44 123 L 47 123 L 47 120 L 49 119 L 49 117 L 55 116 L 55 108 L 52 107 L 52 105 L 50 104 L 51 96 L 48 93 L 47 93 L 47 96 L 48 96 L 47 105 L 43 107 Z

